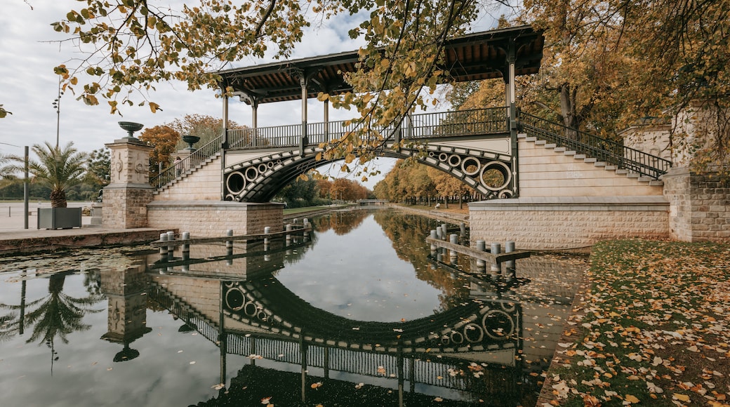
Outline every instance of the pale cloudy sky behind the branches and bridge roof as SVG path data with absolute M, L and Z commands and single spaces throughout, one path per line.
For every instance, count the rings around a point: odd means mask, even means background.
M 158 4 L 178 3 L 180 0 L 161 0 Z M 64 146 L 73 142 L 82 152 L 101 149 L 104 144 L 126 136 L 119 121 L 142 123 L 147 127 L 162 125 L 188 114 L 221 117 L 223 106 L 215 98 L 213 90 L 188 91 L 182 82 L 165 82 L 155 85 L 150 99 L 161 105 L 161 112 L 152 113 L 148 106 L 125 106 L 123 116 L 111 115 L 110 109 L 100 98 L 99 106 L 86 106 L 75 95 L 61 96 L 60 114 L 53 101 L 58 98 L 58 76 L 53 68 L 66 63 L 74 66 L 74 58 L 82 55 L 73 47 L 68 34 L 53 31 L 50 23 L 61 20 L 71 9 L 80 9 L 75 0 L 3 0 L 0 13 L 0 104 L 12 112 L 0 119 L 0 153 L 22 155 L 23 146 L 58 142 Z M 356 16 L 357 17 L 357 16 Z M 480 21 L 488 29 L 491 18 Z M 352 28 L 350 16 L 328 20 L 311 28 L 303 41 L 296 46 L 292 59 L 327 55 L 357 50 L 361 39 L 350 39 L 347 31 Z M 240 61 L 237 66 L 252 66 L 273 60 L 251 59 Z M 322 104 L 315 99 L 307 105 L 310 122 L 323 121 Z M 242 125 L 251 124 L 250 106 L 231 98 L 229 118 Z M 352 112 L 330 109 L 330 120 L 346 120 Z M 262 104 L 258 108 L 258 125 L 289 125 L 301 123 L 301 101 Z M 139 133 L 137 133 L 139 134 Z M 375 167 L 383 174 L 393 166 L 392 159 L 383 159 Z M 371 166 L 372 167 L 372 166 Z M 337 177 L 337 171 L 329 171 Z M 340 174 L 341 176 L 341 174 Z M 380 177 L 365 182 L 372 188 Z

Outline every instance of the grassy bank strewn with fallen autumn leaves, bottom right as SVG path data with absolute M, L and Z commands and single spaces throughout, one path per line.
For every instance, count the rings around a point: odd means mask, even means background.
M 730 245 L 606 241 L 539 407 L 730 406 Z

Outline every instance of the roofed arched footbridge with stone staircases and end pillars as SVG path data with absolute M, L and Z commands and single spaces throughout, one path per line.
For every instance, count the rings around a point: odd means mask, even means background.
M 692 208 L 699 206 L 685 199 L 700 199 L 688 190 L 689 173 L 672 171 L 669 177 L 672 161 L 517 109 L 515 77 L 537 73 L 543 42 L 531 27 L 448 40 L 439 66 L 448 80 L 502 78 L 504 106 L 409 113 L 370 129 L 369 136 L 383 142 L 382 155 L 412 158 L 482 195 L 483 201 L 469 205 L 472 239 L 575 249 L 637 236 L 726 238 L 727 218 L 718 214 L 711 227 L 704 226 L 708 217 L 695 214 Z M 147 162 L 142 150 L 149 147 L 125 140 L 107 144 L 118 174 L 112 171 L 112 184 L 104 189 L 104 206 L 113 211 L 109 217 L 104 211 L 104 225 L 189 230 L 195 236 L 223 236 L 231 227 L 237 233 L 261 233 L 266 226 L 277 231 L 283 208 L 271 198 L 300 174 L 328 163 L 318 160 L 326 143 L 362 125 L 329 120 L 326 102 L 322 122 L 307 117 L 307 98 L 351 90 L 343 74 L 355 69 L 356 58 L 341 53 L 221 71 L 221 87 L 250 104 L 253 127 L 224 128 L 218 139 L 151 180 L 139 171 Z M 302 101 L 301 123 L 258 125 L 259 104 L 292 100 Z M 228 123 L 228 97 L 223 119 Z M 714 198 L 708 199 L 710 204 Z

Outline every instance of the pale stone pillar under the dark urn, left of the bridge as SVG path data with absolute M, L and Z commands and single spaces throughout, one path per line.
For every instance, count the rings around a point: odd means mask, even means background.
M 111 183 L 104 187 L 104 228 L 147 227 L 147 203 L 152 201 L 150 151 L 137 139 L 118 139 L 105 144 L 112 150 Z

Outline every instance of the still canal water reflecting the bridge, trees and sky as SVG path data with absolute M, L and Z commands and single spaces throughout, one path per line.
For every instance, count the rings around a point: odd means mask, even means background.
M 189 254 L 0 257 L 0 406 L 535 405 L 585 258 L 508 278 L 431 251 L 442 221 L 418 214 L 310 221 Z

